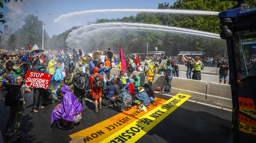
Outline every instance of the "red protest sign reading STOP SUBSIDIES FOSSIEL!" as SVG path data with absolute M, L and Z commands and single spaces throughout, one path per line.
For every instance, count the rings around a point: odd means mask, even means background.
M 37 71 L 28 71 L 25 77 L 28 86 L 47 89 L 52 75 Z

